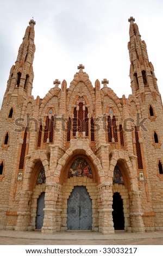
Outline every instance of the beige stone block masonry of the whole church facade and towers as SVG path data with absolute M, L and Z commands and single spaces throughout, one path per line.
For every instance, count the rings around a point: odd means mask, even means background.
M 33 40 L 33 32 L 30 30 L 31 28 L 28 28 L 28 33 L 31 32 L 32 34 L 26 38 L 29 37 L 30 40 Z M 130 33 L 131 31 L 133 30 L 131 29 Z M 4 163 L 3 175 L 0 174 L 0 201 L 3 208 L 0 210 L 0 228 L 35 229 L 37 199 L 42 192 L 46 192 L 45 220 L 42 233 L 53 234 L 55 231 L 67 230 L 67 200 L 74 186 L 85 186 L 92 200 L 92 230 L 101 231 L 103 234 L 114 234 L 112 194 L 116 192 L 120 193 L 123 200 L 126 231 L 143 232 L 145 229 L 148 231 L 163 229 L 163 178 L 158 169 L 158 160 L 163 161 L 162 103 L 152 64 L 146 63 L 148 65 L 144 65 L 143 57 L 139 56 L 139 62 L 142 63 L 140 66 L 137 65 L 135 36 L 137 35 L 131 36 L 129 44 L 130 56 L 133 58 L 133 66 L 130 69 L 133 93 L 129 95 L 128 99 L 125 96 L 122 99 L 118 98 L 107 85 L 100 89 L 101 84 L 98 80 L 93 87 L 89 76 L 83 71 L 84 67 L 79 65 L 79 71 L 74 75 L 69 88 L 64 81 L 61 89 L 58 84 L 49 90 L 43 99 L 37 97 L 34 100 L 34 97 L 31 96 L 33 84 L 33 58 L 31 55 L 34 54 L 35 47 L 33 41 L 30 41 L 30 44 L 25 44 L 25 39 L 23 39 L 17 62 L 11 68 L 7 92 L 0 111 L 0 159 Z M 140 43 L 140 40 L 138 41 Z M 23 51 L 25 45 L 28 46 L 28 63 L 25 61 L 26 56 L 24 56 L 26 51 Z M 139 46 L 142 48 L 141 44 Z M 143 51 L 148 57 L 145 48 Z M 142 76 L 141 67 L 143 65 L 146 67 L 146 86 Z M 20 87 L 16 87 L 20 67 L 22 67 L 23 72 Z M 27 74 L 29 75 L 29 83 L 27 89 L 24 90 L 23 85 Z M 137 85 L 136 75 L 139 82 Z M 78 136 L 71 134 L 70 141 L 67 141 L 67 133 L 62 130 L 62 121 L 65 121 L 62 114 L 65 115 L 65 118 L 74 118 L 73 110 L 74 106 L 77 107 L 79 98 L 84 102 L 83 109 L 88 109 L 89 135 L 86 135 L 85 130 L 83 132 L 77 130 L 76 135 Z M 152 105 L 153 108 L 154 115 L 152 117 L 149 113 L 149 105 Z M 12 119 L 8 118 L 11 107 L 14 109 Z M 42 130 L 41 145 L 37 147 L 39 134 L 34 132 L 35 121 L 32 121 L 32 126 L 29 127 L 30 134 L 26 141 L 26 164 L 20 170 L 19 162 L 23 138 L 21 132 L 15 132 L 14 122 L 16 118 L 25 118 L 27 114 L 30 114 L 30 117 L 35 118 L 39 125 L 42 120 L 43 129 L 45 129 L 45 120 L 49 109 L 52 109 L 53 114 L 60 118 L 61 121 L 57 123 L 60 131 L 54 131 L 53 142 L 49 143 L 50 131 L 48 131 L 48 140 L 43 142 L 45 133 Z M 104 118 L 103 115 L 108 118 L 110 109 L 118 119 L 116 121 L 117 130 L 118 124 L 122 124 L 123 128 L 133 129 L 136 125 L 137 112 L 140 113 L 140 118 L 147 118 L 145 122 L 147 131 L 143 131 L 141 128 L 139 131 L 143 169 L 139 169 L 137 166 L 134 132 L 124 131 L 123 146 L 120 141 L 120 132 L 117 132 L 118 142 L 115 142 L 113 133 L 110 144 L 107 144 L 109 141 L 108 126 L 106 124 L 106 129 L 104 129 L 102 118 Z M 91 141 L 91 118 L 101 119 L 95 120 L 95 127 L 97 125 L 99 131 L 95 132 L 94 141 Z M 126 120 L 128 120 L 127 124 Z M 107 119 L 104 119 L 105 121 L 107 123 Z M 7 130 L 10 134 L 9 145 L 4 147 L 4 135 Z M 159 135 L 158 144 L 153 141 L 154 131 Z M 71 161 L 76 159 L 78 155 L 83 155 L 90 163 L 93 179 L 87 176 L 73 176 L 70 179 L 66 177 Z M 39 162 L 40 166 L 45 169 L 46 184 L 36 184 L 40 171 Z M 120 167 L 124 185 L 112 184 L 116 165 Z M 22 180 L 17 180 L 18 173 L 22 173 Z M 143 181 L 140 180 L 140 173 L 144 175 Z M 8 209 L 12 213 L 16 212 L 17 215 L 7 215 Z M 143 212 L 154 212 L 154 215 L 142 215 Z

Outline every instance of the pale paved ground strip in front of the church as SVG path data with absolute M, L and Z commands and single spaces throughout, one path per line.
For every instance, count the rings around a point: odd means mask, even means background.
M 40 231 L 0 230 L 0 245 L 163 245 L 163 232 L 102 235 L 94 231 L 62 231 L 42 235 Z

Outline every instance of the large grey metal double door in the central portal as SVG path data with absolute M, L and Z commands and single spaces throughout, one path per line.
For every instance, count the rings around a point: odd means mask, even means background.
M 92 200 L 86 187 L 74 187 L 67 203 L 67 229 L 92 229 Z

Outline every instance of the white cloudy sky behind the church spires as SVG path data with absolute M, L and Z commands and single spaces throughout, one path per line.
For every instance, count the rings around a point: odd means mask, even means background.
M 69 87 L 80 63 L 93 86 L 96 79 L 107 78 L 119 97 L 128 96 L 130 16 L 146 41 L 163 95 L 162 0 L 0 0 L 0 106 L 32 17 L 36 21 L 34 97 L 45 96 L 56 78 L 65 79 Z

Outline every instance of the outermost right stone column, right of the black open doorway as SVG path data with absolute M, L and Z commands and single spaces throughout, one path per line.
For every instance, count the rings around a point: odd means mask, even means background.
M 129 192 L 130 197 L 130 222 L 131 230 L 136 233 L 145 232 L 145 227 L 142 220 L 142 209 L 141 209 L 141 191 Z

